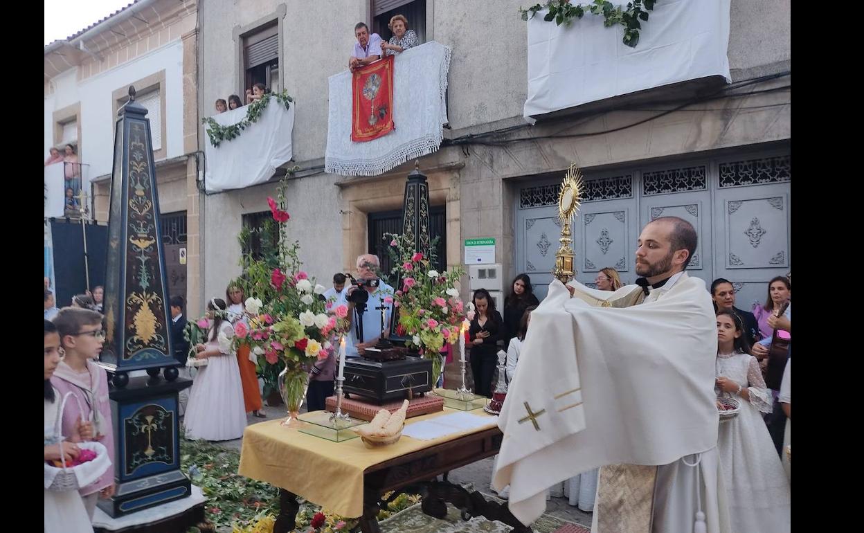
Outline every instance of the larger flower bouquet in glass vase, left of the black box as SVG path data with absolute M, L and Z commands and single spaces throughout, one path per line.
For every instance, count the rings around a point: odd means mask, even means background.
M 248 327 L 237 322 L 233 343 L 264 355 L 259 365 L 283 368 L 276 372 L 276 387 L 289 412 L 295 413 L 305 397 L 310 366 L 338 350 L 336 336 L 347 327 L 347 308 L 332 308 L 321 299 L 327 289 L 302 270 L 300 244 L 288 244 L 284 187 L 282 182 L 277 188 L 276 200 L 267 199 L 278 232 L 276 253 L 242 260 L 244 275 L 238 285 L 250 296 L 245 301 L 249 320 Z M 268 373 L 272 376 L 273 371 L 262 371 Z

